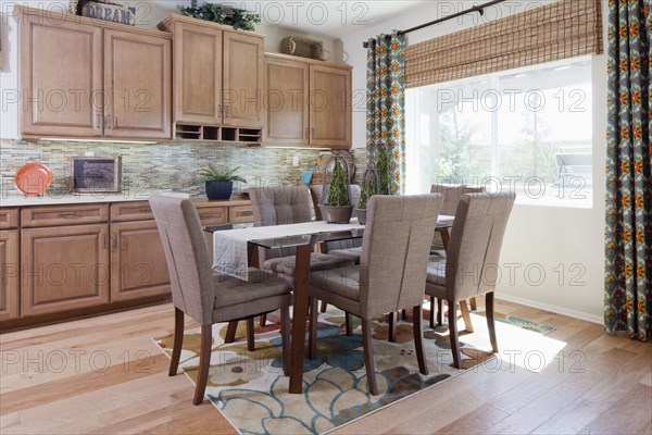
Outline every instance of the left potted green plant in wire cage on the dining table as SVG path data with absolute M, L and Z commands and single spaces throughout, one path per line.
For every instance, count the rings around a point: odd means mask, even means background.
M 333 170 L 326 175 L 327 186 L 324 188 L 326 197 L 322 199 L 319 210 L 322 216 L 328 223 L 348 224 L 353 213 L 351 197 L 349 195 L 349 184 L 347 182 L 348 170 L 344 159 L 336 154 L 331 158 Z

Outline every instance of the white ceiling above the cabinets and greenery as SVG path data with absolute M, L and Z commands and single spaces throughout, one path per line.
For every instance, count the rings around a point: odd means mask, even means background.
M 234 0 L 216 1 L 230 7 L 242 8 L 261 14 L 262 23 L 291 28 L 298 33 L 340 38 L 389 20 L 427 0 L 321 0 L 321 1 L 276 1 L 276 0 Z M 200 0 L 200 4 L 203 1 Z M 178 3 L 190 3 L 179 1 Z

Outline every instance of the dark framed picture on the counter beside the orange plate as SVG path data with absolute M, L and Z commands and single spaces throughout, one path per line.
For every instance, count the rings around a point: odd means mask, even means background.
M 121 157 L 74 157 L 71 159 L 73 191 L 95 194 L 120 191 Z

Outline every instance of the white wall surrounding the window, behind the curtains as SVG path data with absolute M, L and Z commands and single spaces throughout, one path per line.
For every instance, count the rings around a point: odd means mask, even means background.
M 549 2 L 507 2 L 502 8 L 487 10 L 486 17 L 466 15 L 414 32 L 409 35 L 409 41 L 415 44 L 459 32 L 486 20 L 523 12 L 542 3 Z M 473 4 L 469 1 L 431 2 L 342 38 L 344 61 L 353 65 L 355 147 L 364 147 L 366 142 L 365 104 L 360 98 L 366 88 L 366 50 L 362 42 L 377 34 L 410 28 L 448 15 L 451 9 L 456 12 Z M 602 4 L 606 23 L 606 2 Z M 606 25 L 603 27 L 606 41 Z M 600 322 L 604 264 L 605 55 L 593 58 L 593 207 L 576 209 L 516 204 L 503 241 L 503 276 L 497 293 L 503 299 Z M 514 271 L 513 279 L 511 270 Z M 562 273 L 562 270 L 565 272 Z M 544 272 L 543 279 L 539 277 L 540 271 Z M 577 283 L 573 282 L 572 278 L 580 274 Z

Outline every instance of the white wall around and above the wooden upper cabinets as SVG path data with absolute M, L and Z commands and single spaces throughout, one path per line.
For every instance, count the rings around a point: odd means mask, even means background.
M 142 1 L 123 1 L 137 10 L 136 25 L 145 28 L 156 28 L 170 13 L 176 12 L 176 4 L 189 1 L 170 1 L 156 0 L 150 2 Z M 18 89 L 17 62 L 18 62 L 18 40 L 17 23 L 12 17 L 14 4 L 27 5 L 33 8 L 46 9 L 53 12 L 67 10 L 68 1 L 0 1 L 0 39 L 2 40 L 2 71 L 0 71 L 0 138 L 18 138 L 18 104 L 14 102 L 16 89 Z M 255 26 L 256 32 L 265 35 L 265 51 L 278 52 L 280 41 L 292 33 L 310 36 L 314 39 L 324 41 L 324 48 L 330 52 L 330 60 L 335 61 L 338 53 L 335 40 L 321 35 L 306 34 L 305 32 L 293 32 L 290 28 L 265 25 L 263 23 Z

